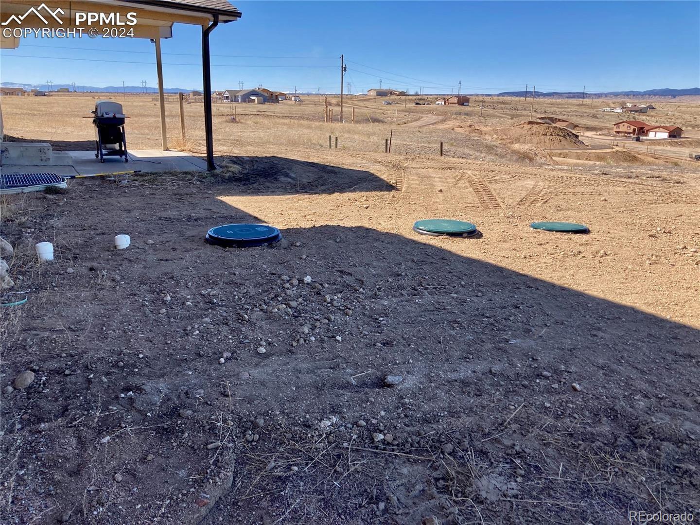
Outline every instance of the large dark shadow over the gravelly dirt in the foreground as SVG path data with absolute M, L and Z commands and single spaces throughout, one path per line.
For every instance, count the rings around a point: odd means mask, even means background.
M 211 246 L 212 225 L 255 220 L 221 186 L 71 186 L 29 197 L 34 238 L 3 224 L 20 254 L 56 246 L 20 257 L 30 299 L 2 319 L 2 386 L 36 373 L 3 394 L 8 521 L 622 524 L 700 505 L 698 330 L 412 232 Z

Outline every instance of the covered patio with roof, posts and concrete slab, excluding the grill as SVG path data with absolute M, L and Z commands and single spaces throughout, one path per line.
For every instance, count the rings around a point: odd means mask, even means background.
M 94 13 L 106 13 L 113 18 L 110 25 L 86 25 Z M 60 29 L 62 31 L 87 31 L 94 28 L 99 35 L 114 28 L 127 28 L 133 38 L 148 38 L 154 44 L 155 66 L 158 74 L 158 98 L 160 102 L 160 135 L 162 151 L 129 151 L 130 162 L 100 164 L 85 152 L 51 152 L 50 144 L 13 143 L 1 144 L 1 164 L 3 172 L 10 170 L 27 172 L 30 167 L 41 167 L 46 171 L 55 167 L 57 174 L 70 171 L 70 174 L 90 172 L 142 169 L 142 171 L 170 171 L 172 169 L 216 169 L 214 164 L 214 139 L 211 117 L 211 70 L 209 59 L 209 36 L 220 24 L 235 22 L 241 13 L 227 0 L 125 0 L 125 1 L 51 1 L 47 7 L 41 1 L 3 0 L 0 18 L 3 31 L 0 34 L 0 48 L 15 49 L 22 38 L 15 36 L 20 29 Z M 113 25 L 114 20 L 136 20 L 134 25 Z M 198 25 L 202 27 L 202 85 L 204 87 L 204 135 L 206 158 L 195 158 L 181 152 L 169 151 L 165 119 L 165 88 L 162 71 L 161 41 L 173 38 L 174 24 Z M 10 29 L 10 31 L 6 31 Z M 83 38 L 87 36 L 83 33 Z M 105 94 L 109 98 L 109 94 Z M 0 141 L 3 133 L 13 130 L 2 129 L 0 113 Z M 127 137 L 128 140 L 128 137 Z M 92 166 L 94 164 L 94 167 Z M 67 173 L 66 173 L 67 174 Z

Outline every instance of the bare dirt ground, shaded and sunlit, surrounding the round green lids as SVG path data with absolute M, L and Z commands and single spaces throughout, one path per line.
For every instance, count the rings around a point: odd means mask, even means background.
M 446 120 L 403 125 L 434 107 L 363 104 L 355 126 L 319 123 L 322 104 L 239 109 L 251 113 L 235 124 L 220 109 L 215 176 L 3 200 L 11 274 L 29 290 L 0 309 L 3 523 L 700 512 L 697 170 L 563 167 Z M 510 104 L 491 110 L 514 113 L 498 127 L 526 120 L 529 107 Z M 127 137 L 157 147 L 146 109 Z M 16 136 L 90 140 L 27 116 L 18 130 L 4 99 L 3 112 Z M 412 232 L 433 217 L 482 236 Z M 538 220 L 591 233 L 528 228 Z M 284 239 L 204 243 L 243 221 Z M 125 251 L 111 248 L 118 233 L 132 237 Z M 56 260 L 39 265 L 44 240 Z M 25 370 L 34 381 L 7 388 Z

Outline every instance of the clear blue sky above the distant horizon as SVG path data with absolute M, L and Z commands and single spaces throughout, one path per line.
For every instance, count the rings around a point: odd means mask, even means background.
M 214 89 L 242 81 L 337 92 L 341 53 L 352 92 L 380 78 L 383 87 L 426 93 L 456 92 L 458 80 L 467 93 L 700 85 L 698 1 L 234 3 L 243 18 L 212 34 Z M 201 87 L 200 66 L 177 65 L 200 64 L 200 29 L 173 33 L 162 45 L 166 87 Z M 153 45 L 143 39 L 27 39 L 0 56 L 3 82 L 157 83 Z M 258 58 L 268 56 L 279 58 Z M 131 63 L 92 62 L 102 59 Z

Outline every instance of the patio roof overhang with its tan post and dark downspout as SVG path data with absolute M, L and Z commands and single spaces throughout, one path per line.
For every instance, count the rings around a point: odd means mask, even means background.
M 48 2 L 29 0 L 3 0 L 0 3 L 0 18 L 4 27 L 29 29 L 76 29 L 96 27 L 103 29 L 124 27 L 114 25 L 90 25 L 76 22 L 77 13 L 114 13 L 122 20 L 134 13 L 137 23 L 134 38 L 148 38 L 155 43 L 155 59 L 158 70 L 158 94 L 160 97 L 160 120 L 163 149 L 167 150 L 165 127 L 165 94 L 163 88 L 161 38 L 172 38 L 174 24 L 199 25 L 202 27 L 202 78 L 204 83 L 204 128 L 207 135 L 207 166 L 215 169 L 214 144 L 211 122 L 211 71 L 209 62 L 209 34 L 219 23 L 235 22 L 241 18 L 237 8 L 227 0 L 51 0 Z M 9 23 L 6 23 L 9 22 Z M 14 49 L 20 38 L 6 36 L 0 31 L 0 48 Z

